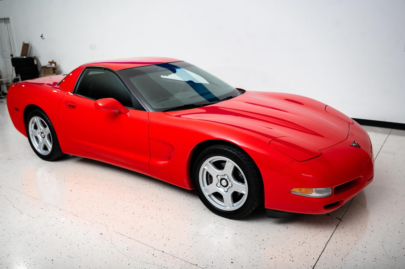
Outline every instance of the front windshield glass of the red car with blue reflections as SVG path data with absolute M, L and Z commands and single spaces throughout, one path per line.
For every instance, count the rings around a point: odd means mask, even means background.
M 241 94 L 185 61 L 128 68 L 118 74 L 154 112 L 203 106 Z

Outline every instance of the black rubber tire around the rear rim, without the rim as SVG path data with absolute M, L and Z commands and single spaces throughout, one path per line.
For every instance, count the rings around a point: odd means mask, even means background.
M 32 141 L 31 141 L 31 138 L 30 138 L 29 128 L 30 128 L 30 120 L 34 116 L 40 117 L 45 122 L 47 127 L 49 128 L 49 131 L 50 131 L 49 133 L 51 135 L 52 146 L 51 146 L 51 151 L 47 155 L 43 155 L 43 154 L 39 153 L 38 150 L 36 150 L 36 148 L 32 144 Z M 43 159 L 45 161 L 56 161 L 56 160 L 58 160 L 58 159 L 60 159 L 60 158 L 62 158 L 64 156 L 64 153 L 62 152 L 62 150 L 60 148 L 58 137 L 56 136 L 55 129 L 53 128 L 53 125 L 52 125 L 51 121 L 49 120 L 49 117 L 47 116 L 47 114 L 45 114 L 45 112 L 43 110 L 41 110 L 41 109 L 32 110 L 28 114 L 25 121 L 26 121 L 26 133 L 27 133 L 27 137 L 28 137 L 28 142 L 30 143 L 32 150 L 34 150 L 34 153 L 36 155 L 38 155 L 38 157 L 40 157 L 41 159 Z

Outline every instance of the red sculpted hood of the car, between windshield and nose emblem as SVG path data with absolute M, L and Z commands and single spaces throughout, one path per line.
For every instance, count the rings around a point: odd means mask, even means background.
M 265 136 L 288 136 L 321 150 L 347 138 L 349 123 L 325 111 L 325 104 L 288 93 L 246 91 L 230 100 L 171 116 L 210 121 Z

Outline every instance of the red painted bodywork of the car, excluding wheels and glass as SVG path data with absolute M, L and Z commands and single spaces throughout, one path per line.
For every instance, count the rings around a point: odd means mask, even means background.
M 115 72 L 175 62 L 179 60 L 156 57 L 99 61 L 67 76 L 21 81 L 10 87 L 9 114 L 27 136 L 26 117 L 39 108 L 53 124 L 63 153 L 111 163 L 185 189 L 196 187 L 191 173 L 198 153 L 213 144 L 234 145 L 257 165 L 264 207 L 272 210 L 328 213 L 373 180 L 367 132 L 348 116 L 307 97 L 239 89 L 239 96 L 208 106 L 154 112 L 74 94 L 88 67 Z M 100 109 L 107 105 L 110 109 Z M 294 188 L 331 188 L 332 194 L 306 197 L 292 193 Z

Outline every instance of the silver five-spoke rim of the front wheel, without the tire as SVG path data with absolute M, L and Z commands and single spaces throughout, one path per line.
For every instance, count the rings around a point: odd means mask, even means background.
M 221 210 L 236 210 L 246 201 L 245 174 L 231 159 L 223 156 L 207 159 L 201 165 L 198 181 L 208 201 Z

